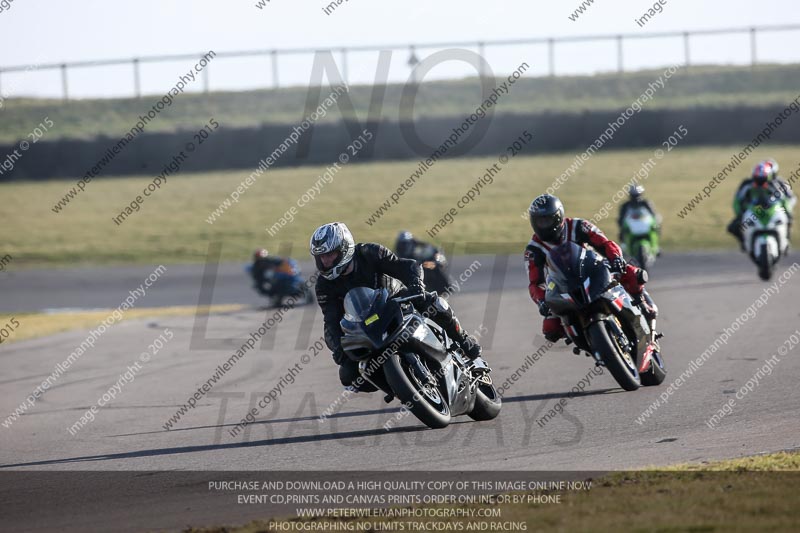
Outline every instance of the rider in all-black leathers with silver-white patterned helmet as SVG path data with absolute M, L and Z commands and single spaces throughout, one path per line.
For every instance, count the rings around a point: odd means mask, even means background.
M 462 329 L 447 301 L 434 292 L 425 292 L 422 268 L 416 262 L 400 259 L 380 244 L 356 244 L 342 222 L 317 228 L 311 236 L 310 248 L 320 273 L 316 292 L 325 322 L 325 343 L 339 365 L 339 379 L 345 387 L 356 386 L 359 377 L 358 363 L 342 349 L 343 333 L 339 325 L 344 316 L 344 297 L 355 287 L 385 288 L 390 295 L 400 297 L 420 295 L 421 298 L 411 301 L 420 313 L 441 326 L 469 359 L 481 355 L 478 341 Z M 357 390 L 376 389 L 365 382 Z

